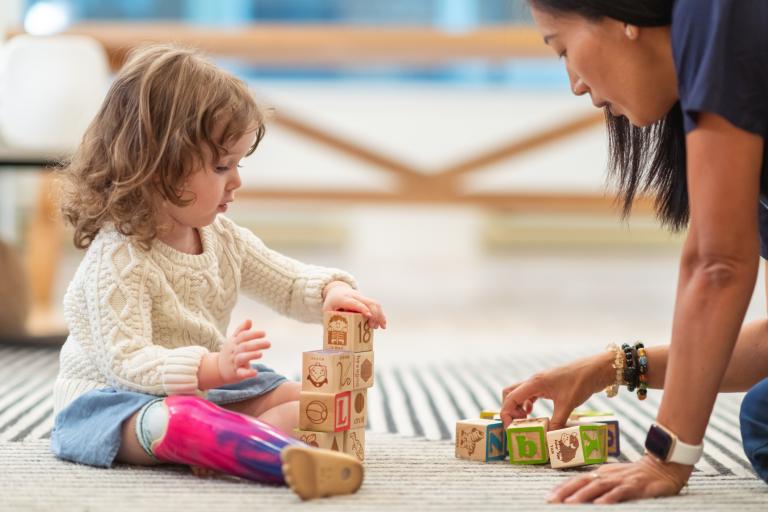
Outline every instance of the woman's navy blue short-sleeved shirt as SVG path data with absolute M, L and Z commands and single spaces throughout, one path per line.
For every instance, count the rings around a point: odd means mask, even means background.
M 675 0 L 672 52 L 686 133 L 696 128 L 699 112 L 710 112 L 768 142 L 768 0 Z M 763 258 L 767 177 L 764 152 L 758 206 Z

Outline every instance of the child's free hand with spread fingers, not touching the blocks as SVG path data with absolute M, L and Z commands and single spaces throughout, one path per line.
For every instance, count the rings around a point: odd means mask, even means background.
M 246 320 L 234 334 L 227 338 L 219 352 L 219 374 L 227 383 L 255 377 L 259 372 L 251 368 L 251 361 L 261 358 L 261 351 L 271 344 L 263 339 L 263 331 L 251 331 L 251 321 Z

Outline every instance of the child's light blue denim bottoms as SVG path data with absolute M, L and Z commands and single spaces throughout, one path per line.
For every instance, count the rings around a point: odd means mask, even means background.
M 210 389 L 206 399 L 225 405 L 264 395 L 287 379 L 261 364 L 252 378 Z M 102 388 L 89 391 L 62 409 L 54 420 L 51 450 L 61 459 L 110 467 L 122 443 L 123 422 L 158 396 Z

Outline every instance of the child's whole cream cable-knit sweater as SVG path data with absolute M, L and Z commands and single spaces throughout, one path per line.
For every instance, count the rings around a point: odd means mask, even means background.
M 64 296 L 70 334 L 54 384 L 58 412 L 87 391 L 114 387 L 153 395 L 199 393 L 197 370 L 226 339 L 239 292 L 302 321 L 319 322 L 322 291 L 353 278 L 268 249 L 218 216 L 201 230 L 203 253 L 155 240 L 142 250 L 102 228 Z

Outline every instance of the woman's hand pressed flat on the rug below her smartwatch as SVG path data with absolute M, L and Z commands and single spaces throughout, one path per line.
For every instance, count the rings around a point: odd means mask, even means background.
M 554 488 L 550 503 L 618 503 L 673 496 L 691 476 L 693 466 L 664 464 L 646 455 L 630 464 L 605 464 Z

